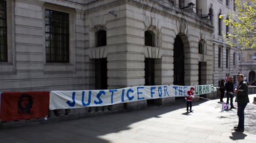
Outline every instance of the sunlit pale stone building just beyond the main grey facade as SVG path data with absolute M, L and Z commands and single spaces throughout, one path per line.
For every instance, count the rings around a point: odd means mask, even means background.
M 236 75 L 239 72 L 239 51 L 240 49 L 237 47 L 231 47 L 225 43 L 225 39 L 223 37 L 223 33 L 227 33 L 229 31 L 229 27 L 225 25 L 224 21 L 219 19 L 219 15 L 228 15 L 229 10 L 234 10 L 234 2 L 233 1 L 216 1 L 216 3 L 212 3 L 210 8 L 214 13 L 212 17 L 212 24 L 215 27 L 214 31 L 214 66 L 213 66 L 213 82 L 214 86 L 220 86 L 220 82 L 222 79 L 226 81 L 226 77 L 233 77 L 234 82 L 236 81 Z

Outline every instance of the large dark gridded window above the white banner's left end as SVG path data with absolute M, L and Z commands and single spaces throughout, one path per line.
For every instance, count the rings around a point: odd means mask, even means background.
M 46 10 L 46 62 L 69 62 L 69 14 Z

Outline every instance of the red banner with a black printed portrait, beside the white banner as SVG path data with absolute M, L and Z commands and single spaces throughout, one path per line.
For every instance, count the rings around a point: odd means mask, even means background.
M 1 93 L 1 122 L 41 118 L 48 115 L 49 92 Z

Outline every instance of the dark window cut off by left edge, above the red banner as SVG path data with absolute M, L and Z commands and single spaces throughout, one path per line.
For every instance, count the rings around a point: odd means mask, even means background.
M 0 1 L 0 62 L 7 62 L 6 1 Z

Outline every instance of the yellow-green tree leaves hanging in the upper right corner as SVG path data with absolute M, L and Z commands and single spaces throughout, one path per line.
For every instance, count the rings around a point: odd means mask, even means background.
M 230 10 L 228 16 L 220 15 L 219 18 L 230 28 L 229 33 L 222 33 L 225 42 L 230 46 L 241 49 L 256 46 L 256 0 L 248 0 L 249 6 L 234 0 L 236 11 Z M 252 7 L 251 7 L 252 6 Z M 228 18 L 227 18 L 228 17 Z

